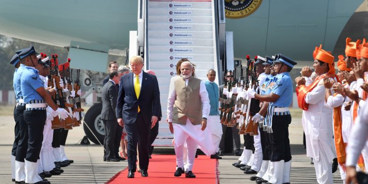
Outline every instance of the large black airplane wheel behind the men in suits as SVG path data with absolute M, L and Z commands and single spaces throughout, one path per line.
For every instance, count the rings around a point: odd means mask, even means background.
M 101 120 L 101 110 L 102 110 L 102 103 L 92 105 L 91 108 L 89 108 L 88 111 L 85 113 L 84 122 L 92 130 L 93 134 L 96 135 L 101 144 L 104 144 L 105 126 L 103 121 Z M 83 124 L 83 130 L 84 133 L 87 135 L 88 139 L 95 144 L 100 144 L 97 141 L 96 137 L 88 129 L 88 127 L 85 124 Z

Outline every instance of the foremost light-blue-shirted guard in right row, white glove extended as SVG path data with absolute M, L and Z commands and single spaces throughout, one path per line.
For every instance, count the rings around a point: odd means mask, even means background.
M 291 115 L 289 106 L 292 100 L 293 88 L 289 72 L 296 62 L 285 55 L 279 54 L 274 61 L 274 69 L 277 71 L 275 85 L 269 95 L 256 94 L 253 88 L 248 89 L 249 98 L 255 98 L 263 102 L 269 102 L 269 112 L 266 130 L 272 134 L 270 172 L 273 174 L 270 180 L 264 184 L 289 184 L 291 152 L 289 142 L 289 124 Z

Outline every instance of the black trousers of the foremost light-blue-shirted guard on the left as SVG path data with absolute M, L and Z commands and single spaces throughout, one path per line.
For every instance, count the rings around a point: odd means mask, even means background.
M 26 160 L 37 162 L 41 152 L 46 110 L 25 110 L 24 119 L 28 126 L 29 136 Z

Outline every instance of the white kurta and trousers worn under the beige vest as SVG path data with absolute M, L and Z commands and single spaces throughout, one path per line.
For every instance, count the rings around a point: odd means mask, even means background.
M 185 85 L 188 85 L 188 79 L 185 79 Z M 205 83 L 200 82 L 200 89 L 198 95 L 202 101 L 202 117 L 208 118 L 210 114 L 210 100 L 206 90 Z M 175 86 L 171 92 L 167 102 L 167 117 L 169 122 L 172 122 L 173 117 L 173 106 L 176 100 Z M 189 107 L 190 108 L 190 107 Z M 208 124 L 208 123 L 207 123 Z M 211 133 L 208 128 L 204 131 L 201 130 L 201 125 L 193 125 L 189 119 L 186 119 L 185 125 L 179 125 L 173 123 L 174 129 L 174 148 L 176 155 L 176 162 L 178 167 L 184 168 L 184 149 L 187 149 L 187 164 L 184 170 L 186 172 L 191 171 L 194 164 L 194 158 L 197 146 L 205 153 L 210 156 L 214 153 L 215 148 L 213 147 Z M 186 142 L 187 148 L 184 147 Z

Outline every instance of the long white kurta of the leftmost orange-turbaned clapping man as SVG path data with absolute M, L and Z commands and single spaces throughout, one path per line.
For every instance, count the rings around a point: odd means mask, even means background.
M 323 80 L 305 96 L 309 104 L 303 111 L 302 124 L 306 136 L 307 157 L 313 158 L 317 182 L 333 184 L 332 161 L 336 158 L 333 140 L 332 108 L 325 106 Z

